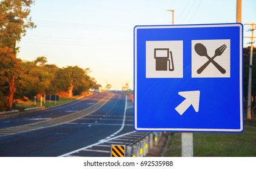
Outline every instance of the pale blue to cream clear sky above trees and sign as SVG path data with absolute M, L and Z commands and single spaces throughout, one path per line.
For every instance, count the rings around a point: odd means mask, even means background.
M 133 89 L 133 28 L 136 25 L 224 24 L 236 22 L 236 0 L 35 0 L 18 57 L 47 57 L 59 68 L 90 68 L 102 86 Z M 242 24 L 256 23 L 256 1 L 242 0 Z M 251 36 L 244 25 L 244 36 Z M 254 35 L 255 36 L 255 35 Z M 244 38 L 244 46 L 250 40 Z

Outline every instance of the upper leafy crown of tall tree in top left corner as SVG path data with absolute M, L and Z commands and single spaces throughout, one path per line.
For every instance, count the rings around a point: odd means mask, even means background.
M 28 28 L 35 28 L 29 17 L 33 0 L 4 0 L 0 2 L 0 45 L 16 52 L 16 42 Z

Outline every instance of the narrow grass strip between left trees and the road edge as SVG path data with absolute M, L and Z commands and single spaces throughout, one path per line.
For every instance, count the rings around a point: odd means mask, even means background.
M 42 106 L 44 107 L 52 107 L 52 106 L 58 106 L 59 104 L 64 104 L 64 103 L 69 103 L 70 101 L 75 100 L 75 98 L 59 98 L 58 101 L 42 101 Z M 21 101 L 19 103 L 15 103 L 15 106 L 13 106 L 13 109 L 19 110 L 20 112 L 24 112 L 25 108 L 31 108 L 31 107 L 40 107 L 41 103 L 40 102 L 35 102 L 34 101 Z

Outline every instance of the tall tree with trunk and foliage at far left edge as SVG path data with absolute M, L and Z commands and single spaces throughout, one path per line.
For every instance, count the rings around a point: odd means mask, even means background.
M 15 79 L 20 60 L 16 58 L 18 47 L 16 43 L 25 36 L 28 28 L 35 28 L 30 14 L 30 5 L 33 0 L 3 0 L 0 2 L 0 48 L 2 57 L 1 80 L 8 84 L 8 93 L 1 91 L 7 96 L 8 109 L 12 109 L 13 95 L 16 91 Z M 12 62 L 7 62 L 12 59 Z M 12 66 L 8 65 L 11 64 Z M 2 89 L 0 89 L 2 90 Z

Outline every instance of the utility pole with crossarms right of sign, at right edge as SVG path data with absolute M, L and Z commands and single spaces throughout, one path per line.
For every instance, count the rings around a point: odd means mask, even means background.
M 249 80 L 248 80 L 248 106 L 247 106 L 247 118 L 251 119 L 251 98 L 252 98 L 252 52 L 254 49 L 254 45 L 253 45 L 253 41 L 254 41 L 254 30 L 256 28 L 256 24 L 252 23 L 252 24 L 244 24 L 244 25 L 250 25 L 252 27 L 252 29 L 250 31 L 252 31 L 252 36 L 244 36 L 244 37 L 248 37 L 251 39 L 251 53 L 250 53 L 250 65 L 249 65 Z

